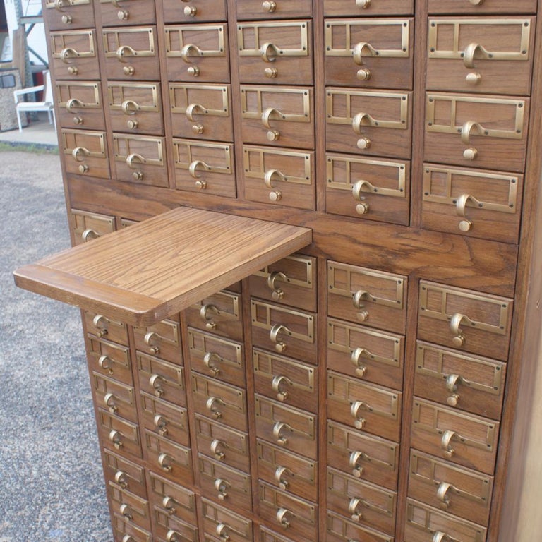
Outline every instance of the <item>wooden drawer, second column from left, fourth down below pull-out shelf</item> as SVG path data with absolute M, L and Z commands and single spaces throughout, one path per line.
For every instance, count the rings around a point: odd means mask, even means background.
M 162 476 L 183 483 L 194 483 L 192 470 L 192 452 L 190 448 L 155 435 L 145 429 L 145 457 L 151 468 Z

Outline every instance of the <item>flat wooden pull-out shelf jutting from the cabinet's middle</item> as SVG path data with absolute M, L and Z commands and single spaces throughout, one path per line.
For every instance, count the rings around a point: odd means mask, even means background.
M 210 224 L 216 224 L 220 229 L 222 223 L 235 230 L 232 234 L 234 239 L 229 239 L 225 248 L 224 238 L 207 234 Z M 199 235 L 196 238 L 194 229 Z M 247 231 L 251 231 L 251 235 Z M 186 254 L 168 254 L 162 261 L 160 255 L 152 251 L 155 241 L 170 238 L 179 246 L 190 247 L 189 264 L 186 263 Z M 195 207 L 176 207 L 90 243 L 24 265 L 13 272 L 13 277 L 20 288 L 143 327 L 183 311 L 200 299 L 299 251 L 312 240 L 312 229 L 305 227 Z M 149 248 L 142 248 L 145 246 Z M 118 255 L 118 262 L 110 260 L 112 247 L 114 254 Z M 217 265 L 209 265 L 209 255 L 224 253 L 224 250 L 228 257 L 213 262 Z M 143 258 L 139 267 L 134 265 L 134 251 Z M 123 260 L 124 254 L 126 258 Z M 167 267 L 167 258 L 171 260 L 170 267 Z M 84 265 L 85 262 L 88 265 Z M 81 265 L 83 268 L 78 272 Z M 197 282 L 192 280 L 193 284 L 187 284 L 193 276 L 186 281 L 179 280 L 177 273 L 183 266 L 197 269 L 202 276 L 198 276 Z M 153 269 L 156 277 L 152 275 Z M 125 277 L 130 278 L 128 286 L 119 284 Z M 149 284 L 155 283 L 164 284 L 163 294 L 145 292 Z

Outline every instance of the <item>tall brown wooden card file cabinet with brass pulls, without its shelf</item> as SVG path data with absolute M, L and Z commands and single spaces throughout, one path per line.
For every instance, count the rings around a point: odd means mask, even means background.
M 313 231 L 143 326 L 81 303 L 116 542 L 539 530 L 541 9 L 44 1 L 74 245 Z

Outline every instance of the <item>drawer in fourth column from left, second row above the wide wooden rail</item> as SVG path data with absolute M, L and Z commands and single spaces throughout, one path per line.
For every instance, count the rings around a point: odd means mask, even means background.
M 313 88 L 241 85 L 243 142 L 313 149 L 313 102 Z

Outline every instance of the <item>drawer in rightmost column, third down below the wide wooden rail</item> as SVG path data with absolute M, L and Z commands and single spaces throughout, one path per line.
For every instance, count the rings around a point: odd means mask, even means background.
M 453 463 L 493 474 L 499 425 L 416 397 L 411 445 Z

